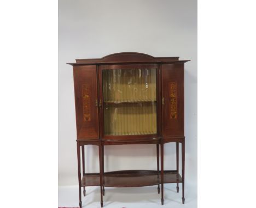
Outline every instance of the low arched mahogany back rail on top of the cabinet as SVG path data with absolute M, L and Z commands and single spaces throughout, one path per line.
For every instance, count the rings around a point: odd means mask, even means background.
M 123 53 L 113 53 L 103 58 L 96 59 L 75 59 L 77 63 L 88 63 L 88 62 L 148 62 L 154 60 L 178 60 L 179 57 L 159 57 L 155 58 L 149 56 L 145 53 L 136 53 L 136 52 L 123 52 Z

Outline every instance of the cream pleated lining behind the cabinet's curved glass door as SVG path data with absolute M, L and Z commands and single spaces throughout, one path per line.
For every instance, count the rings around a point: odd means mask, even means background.
M 102 71 L 105 135 L 156 133 L 156 69 Z

